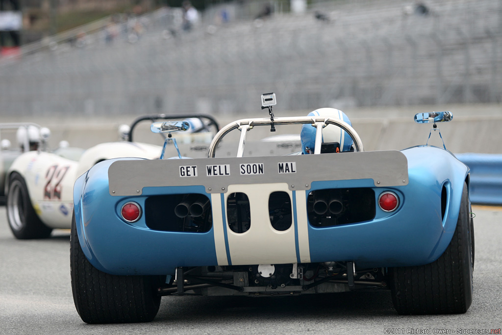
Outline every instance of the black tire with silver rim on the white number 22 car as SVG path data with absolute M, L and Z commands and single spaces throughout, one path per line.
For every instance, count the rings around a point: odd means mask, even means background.
M 19 240 L 46 239 L 52 228 L 40 220 L 30 200 L 25 179 L 13 172 L 7 195 L 7 219 L 14 236 Z

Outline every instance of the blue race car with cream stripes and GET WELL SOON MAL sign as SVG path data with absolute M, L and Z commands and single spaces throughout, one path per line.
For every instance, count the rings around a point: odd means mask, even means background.
M 466 312 L 474 264 L 468 167 L 428 145 L 364 152 L 337 109 L 288 118 L 269 111 L 270 119 L 223 127 L 208 158 L 110 159 L 76 180 L 70 261 L 82 320 L 150 321 L 166 295 L 368 287 L 391 290 L 400 314 Z M 451 119 L 415 117 L 435 128 Z M 290 124 L 302 127 L 301 152 L 244 157 L 249 130 Z M 215 158 L 236 129 L 237 157 Z

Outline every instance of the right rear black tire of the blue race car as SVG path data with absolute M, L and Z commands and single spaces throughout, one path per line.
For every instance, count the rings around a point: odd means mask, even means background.
M 436 261 L 391 268 L 391 291 L 399 314 L 465 313 L 472 303 L 472 235 L 470 203 L 464 183 L 457 226 Z

